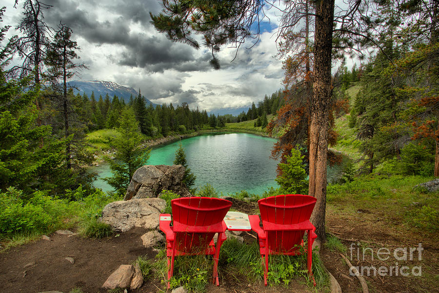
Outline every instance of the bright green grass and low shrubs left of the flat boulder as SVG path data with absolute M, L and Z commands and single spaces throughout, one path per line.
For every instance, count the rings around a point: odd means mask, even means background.
M 66 190 L 62 199 L 37 192 L 23 200 L 20 194 L 15 189 L 0 193 L 2 250 L 38 239 L 42 234 L 55 230 L 83 228 L 83 235 L 106 236 L 111 229 L 97 219 L 108 203 L 120 200 L 120 197 L 109 196 L 101 190 L 90 191 L 82 187 Z

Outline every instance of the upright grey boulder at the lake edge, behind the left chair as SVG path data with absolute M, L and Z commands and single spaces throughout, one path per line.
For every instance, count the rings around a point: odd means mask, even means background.
M 180 196 L 191 196 L 181 180 L 184 167 L 181 165 L 145 165 L 134 172 L 124 200 L 158 197 L 161 190 L 171 190 Z

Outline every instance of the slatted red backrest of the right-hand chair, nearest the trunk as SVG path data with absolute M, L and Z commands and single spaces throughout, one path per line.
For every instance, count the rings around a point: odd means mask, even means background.
M 316 205 L 315 197 L 303 194 L 270 196 L 258 201 L 262 221 L 290 225 L 309 220 Z M 267 245 L 271 251 L 293 253 L 300 245 L 305 231 L 267 231 Z

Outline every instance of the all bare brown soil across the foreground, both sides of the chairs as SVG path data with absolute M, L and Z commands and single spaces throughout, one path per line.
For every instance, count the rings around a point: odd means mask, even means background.
M 258 210 L 256 203 L 233 200 L 232 208 L 254 213 Z M 385 212 L 385 211 L 383 211 Z M 422 277 L 414 276 L 365 276 L 371 292 L 439 292 L 437 281 L 439 275 L 439 248 L 437 235 L 410 233 L 398 223 L 389 225 L 379 214 L 359 211 L 358 217 L 346 216 L 328 209 L 326 227 L 329 232 L 342 239 L 347 248 L 345 255 L 354 266 L 394 265 L 395 259 L 381 261 L 372 259 L 370 253 L 363 259 L 355 255 L 351 258 L 349 247 L 352 243 L 364 241 L 363 246 L 377 251 L 387 247 L 393 252 L 398 247 L 417 247 L 422 243 L 422 260 L 415 253 L 414 260 L 399 261 L 400 266 L 422 266 Z M 122 264 L 132 263 L 140 255 L 153 258 L 156 252 L 142 246 L 140 236 L 147 230 L 136 228 L 106 239 L 85 239 L 78 235 L 49 235 L 51 241 L 37 240 L 20 247 L 0 253 L 0 293 L 38 293 L 56 290 L 63 293 L 73 288 L 80 288 L 84 293 L 106 293 L 100 287 L 107 277 Z M 252 234 L 252 235 L 250 235 Z M 255 240 L 254 234 L 243 232 L 245 242 Z M 361 249 L 361 248 L 360 248 Z M 349 276 L 349 268 L 339 255 L 339 251 L 330 251 L 322 246 L 320 255 L 325 267 L 339 281 L 343 293 L 361 292 L 358 279 Z M 72 257 L 71 264 L 65 257 Z M 393 259 L 393 260 L 392 260 Z M 227 272 L 220 272 L 220 287 L 209 285 L 207 292 L 214 293 L 286 293 L 313 292 L 303 280 L 295 280 L 288 288 L 263 284 L 249 284 L 237 279 Z M 160 280 L 149 280 L 133 293 L 165 292 Z

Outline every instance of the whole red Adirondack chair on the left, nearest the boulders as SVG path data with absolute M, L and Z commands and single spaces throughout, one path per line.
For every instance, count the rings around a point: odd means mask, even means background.
M 171 201 L 174 225 L 170 214 L 160 214 L 160 230 L 166 234 L 166 256 L 168 259 L 169 281 L 174 272 L 176 255 L 213 255 L 213 280 L 217 286 L 218 258 L 221 244 L 227 239 L 227 229 L 223 219 L 232 202 L 211 197 L 181 197 Z M 217 246 L 213 241 L 218 233 Z

